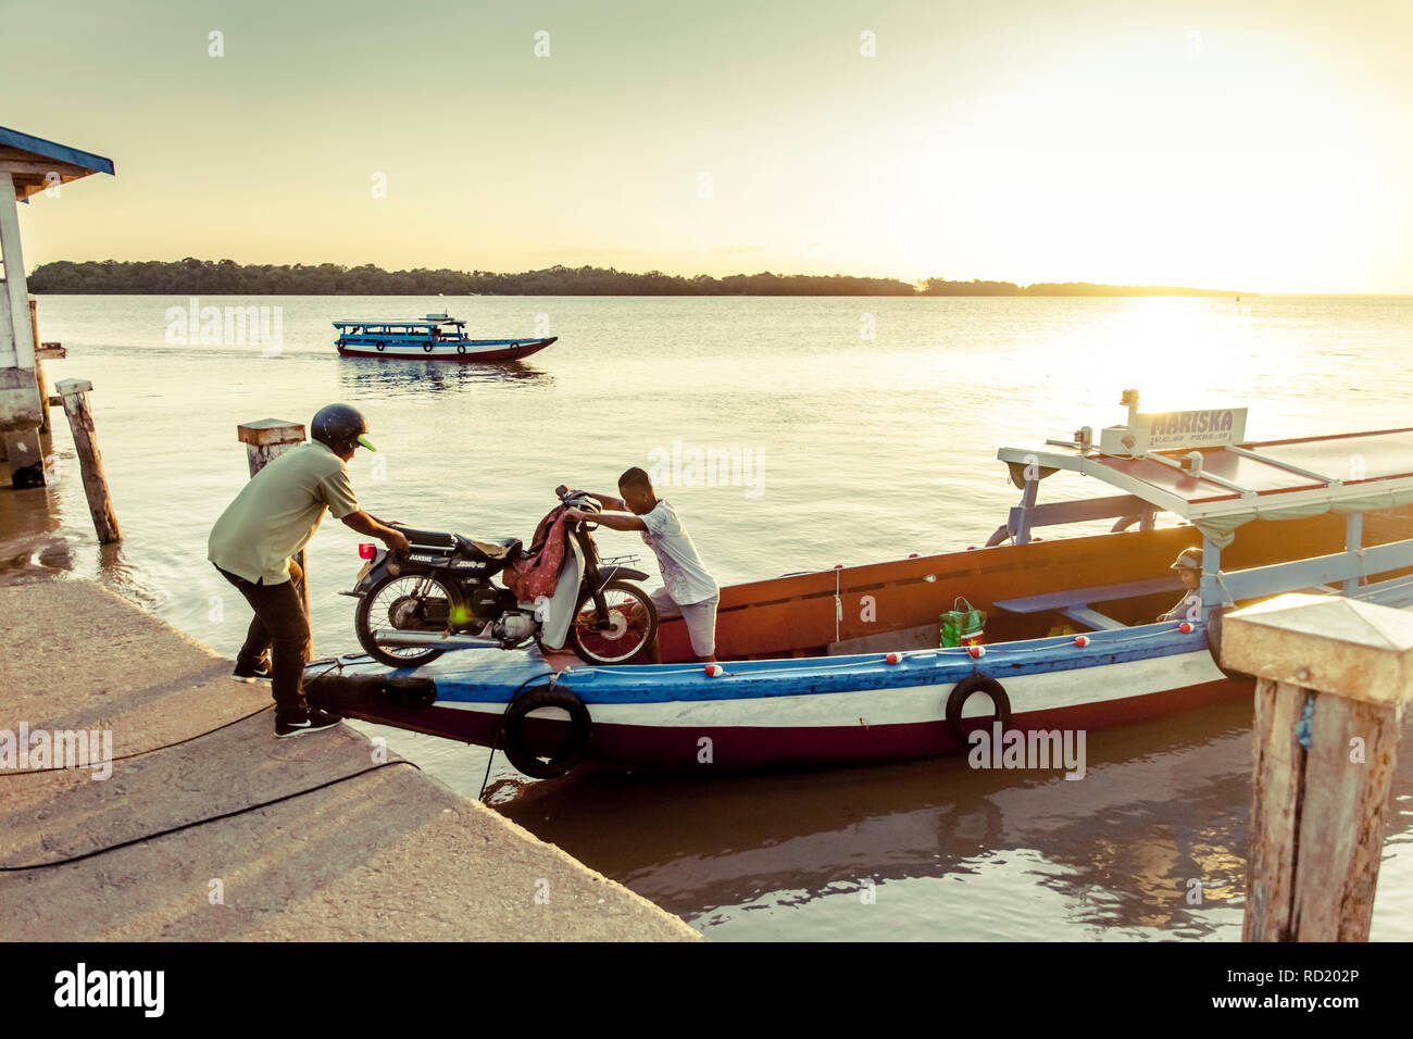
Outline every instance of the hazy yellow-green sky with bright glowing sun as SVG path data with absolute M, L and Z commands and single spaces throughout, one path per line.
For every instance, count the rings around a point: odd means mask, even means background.
M 1410 41 L 1409 0 L 0 0 L 0 126 L 117 168 L 20 206 L 31 270 L 1413 293 Z

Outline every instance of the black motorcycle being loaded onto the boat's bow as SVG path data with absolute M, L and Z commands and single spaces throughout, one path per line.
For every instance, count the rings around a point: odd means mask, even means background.
M 567 491 L 560 500 L 579 512 L 602 510 L 588 495 Z M 359 599 L 359 643 L 389 667 L 421 667 L 449 649 L 517 649 L 531 640 L 547 652 L 568 642 L 591 664 L 630 664 L 651 650 L 657 609 L 633 584 L 647 574 L 626 565 L 639 557 L 599 558 L 596 527 L 591 520 L 569 526 L 554 594 L 534 602 L 520 602 L 490 580 L 524 557 L 520 539 L 407 527 L 396 529 L 410 551 L 360 544 L 366 563 L 353 591 L 341 594 Z M 634 606 L 646 619 L 634 619 Z

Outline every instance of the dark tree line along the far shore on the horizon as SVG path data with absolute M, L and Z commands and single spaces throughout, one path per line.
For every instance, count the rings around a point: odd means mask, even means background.
M 383 270 L 372 263 L 242 264 L 235 260 L 55 260 L 30 274 L 37 294 L 95 295 L 1232 295 L 1170 286 L 1088 281 L 1019 286 L 1013 281 L 916 284 L 851 274 L 729 274 L 682 277 L 615 267 L 545 267 L 519 274 L 489 270 Z

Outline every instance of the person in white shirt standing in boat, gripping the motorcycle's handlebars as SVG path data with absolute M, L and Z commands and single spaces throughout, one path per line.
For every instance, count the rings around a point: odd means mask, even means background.
M 564 492 L 564 485 L 555 488 L 555 493 L 562 496 Z M 716 584 L 716 578 L 706 573 L 701 556 L 697 554 L 697 546 L 692 543 L 691 534 L 687 533 L 677 510 L 666 499 L 657 496 L 647 472 L 633 466 L 619 476 L 622 498 L 596 495 L 592 491 L 577 491 L 575 493 L 586 493 L 598 499 L 599 505 L 609 512 L 585 513 L 569 509 L 565 515 L 571 520 L 589 520 L 613 530 L 642 533 L 643 543 L 657 556 L 657 565 L 663 571 L 664 587 L 653 592 L 653 605 L 657 608 L 658 618 L 682 618 L 697 659 L 715 660 L 716 602 L 721 585 Z M 639 618 L 642 618 L 642 606 L 634 606 L 633 619 Z M 656 645 L 653 646 L 653 660 L 660 662 Z

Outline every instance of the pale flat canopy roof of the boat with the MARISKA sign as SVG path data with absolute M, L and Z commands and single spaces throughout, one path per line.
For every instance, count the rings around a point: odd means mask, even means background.
M 1112 427 L 1104 431 L 1104 447 L 1095 447 L 1085 428 L 1074 444 L 1047 441 L 1060 451 L 1007 447 L 996 457 L 1010 466 L 1017 486 L 1060 469 L 1081 472 L 1190 520 L 1222 547 L 1231 544 L 1236 527 L 1258 517 L 1371 512 L 1413 502 L 1413 428 L 1215 447 L 1201 447 L 1200 437 L 1194 447 L 1190 435 L 1183 447 L 1167 450 L 1154 450 L 1152 444 L 1161 440 L 1156 433 L 1149 440 L 1159 425 L 1136 423 L 1133 428 L 1136 444 L 1129 427 Z M 1245 413 L 1238 428 L 1245 428 Z M 1116 448 L 1121 442 L 1132 452 Z

